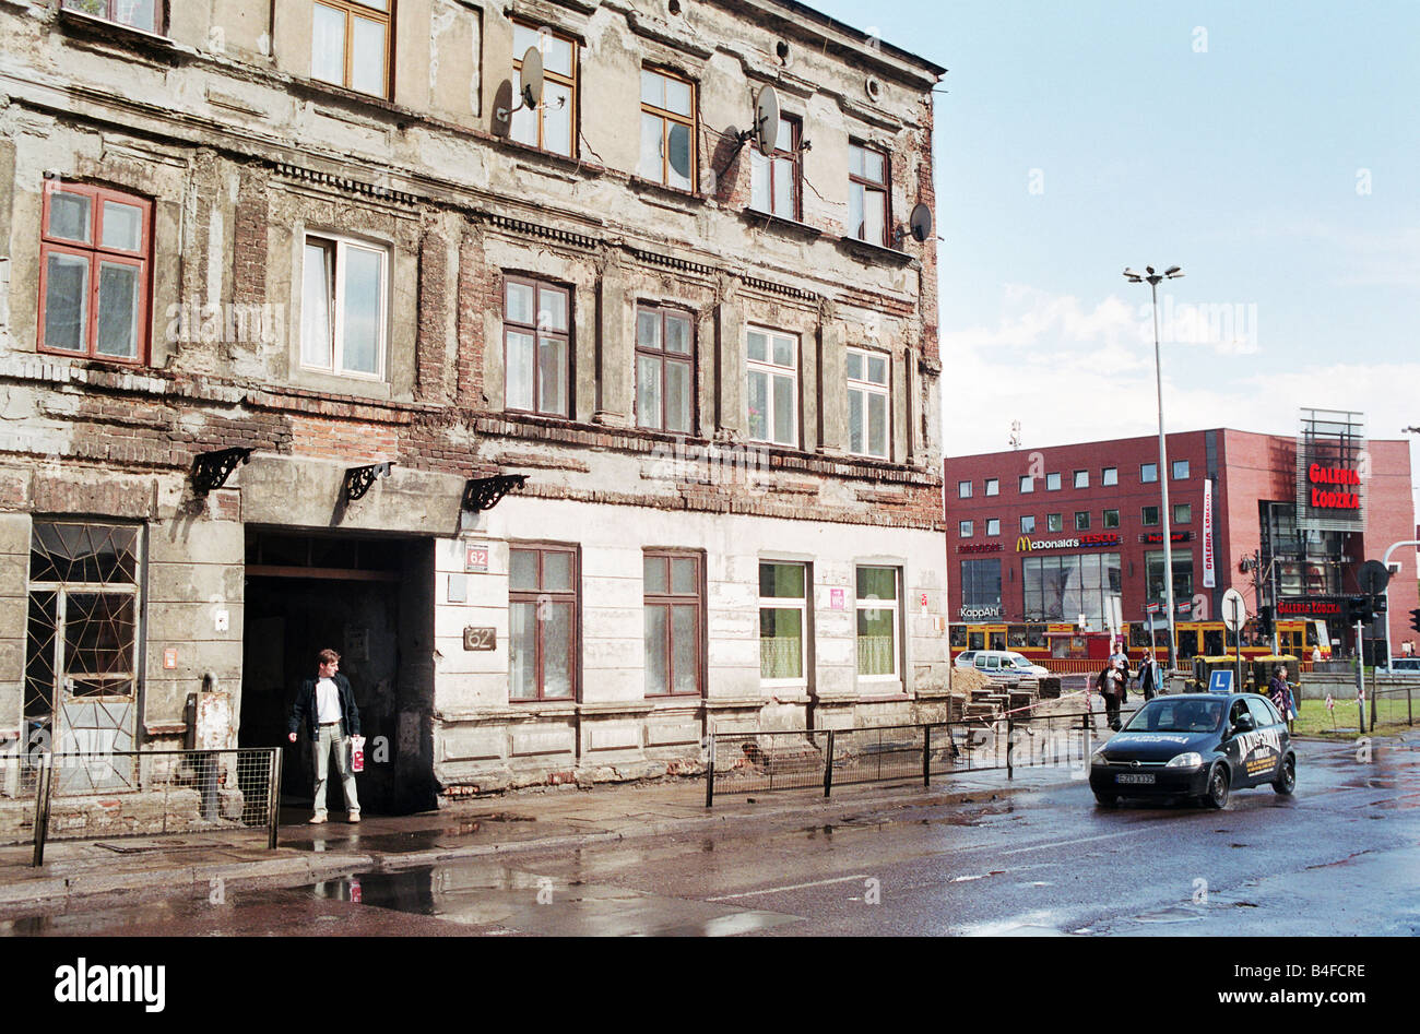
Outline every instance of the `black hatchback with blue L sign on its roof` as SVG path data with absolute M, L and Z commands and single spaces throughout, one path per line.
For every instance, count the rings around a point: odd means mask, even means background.
M 1186 797 L 1223 808 L 1234 790 L 1296 788 L 1287 723 L 1257 693 L 1154 697 L 1091 756 L 1089 788 L 1102 807 L 1120 797 Z

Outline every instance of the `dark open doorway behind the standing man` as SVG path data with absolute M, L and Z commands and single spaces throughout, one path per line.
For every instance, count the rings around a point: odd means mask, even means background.
M 433 699 L 433 544 L 426 540 L 247 533 L 243 747 L 281 746 L 288 807 L 310 807 L 311 746 L 287 722 L 315 655 L 341 655 L 365 736 L 356 777 L 361 810 L 403 814 L 435 805 L 429 710 Z M 423 659 L 423 663 L 420 663 Z M 334 768 L 332 812 L 345 801 Z

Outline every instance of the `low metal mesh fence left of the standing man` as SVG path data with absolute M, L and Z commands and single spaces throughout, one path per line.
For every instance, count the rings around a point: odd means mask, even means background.
M 281 750 L 16 753 L 0 758 L 6 798 L 33 815 L 33 865 L 50 839 L 264 828 L 275 848 Z

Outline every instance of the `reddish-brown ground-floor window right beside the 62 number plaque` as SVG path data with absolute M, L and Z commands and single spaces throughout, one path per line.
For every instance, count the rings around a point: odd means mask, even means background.
M 508 697 L 577 697 L 579 571 L 574 545 L 508 550 Z

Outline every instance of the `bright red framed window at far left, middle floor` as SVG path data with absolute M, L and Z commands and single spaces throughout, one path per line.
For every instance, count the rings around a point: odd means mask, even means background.
M 40 351 L 143 362 L 152 202 L 45 180 L 40 220 Z

